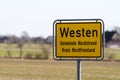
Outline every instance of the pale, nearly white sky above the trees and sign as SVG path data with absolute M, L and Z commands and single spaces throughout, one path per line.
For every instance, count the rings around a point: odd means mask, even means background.
M 120 27 L 120 0 L 0 0 L 0 35 L 47 37 L 56 19 L 96 19 Z

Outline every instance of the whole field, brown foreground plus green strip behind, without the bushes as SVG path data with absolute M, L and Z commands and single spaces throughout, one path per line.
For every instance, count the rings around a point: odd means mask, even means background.
M 46 45 L 49 52 L 48 60 L 6 59 L 7 45 L 0 44 L 0 80 L 77 80 L 76 61 L 52 60 L 52 47 Z M 10 47 L 12 57 L 19 57 L 17 45 Z M 25 45 L 23 57 L 32 53 L 43 55 L 41 46 Z M 112 60 L 109 56 L 113 55 Z M 82 80 L 120 80 L 120 50 L 105 48 L 105 61 L 82 61 Z M 115 62 L 118 60 L 119 62 Z M 106 62 L 108 61 L 108 62 Z

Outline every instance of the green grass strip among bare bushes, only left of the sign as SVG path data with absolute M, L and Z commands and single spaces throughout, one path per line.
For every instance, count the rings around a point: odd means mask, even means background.
M 31 53 L 35 56 L 35 54 L 41 54 L 44 55 L 43 50 L 41 49 L 41 45 L 39 44 L 25 44 L 23 46 L 23 57 L 26 56 L 26 54 Z M 49 51 L 49 53 L 52 53 L 52 47 L 50 45 L 46 45 L 45 47 Z M 19 57 L 20 49 L 18 48 L 17 44 L 12 44 L 11 46 L 8 46 L 7 44 L 0 44 L 0 57 L 8 56 L 7 51 L 10 51 L 12 57 Z

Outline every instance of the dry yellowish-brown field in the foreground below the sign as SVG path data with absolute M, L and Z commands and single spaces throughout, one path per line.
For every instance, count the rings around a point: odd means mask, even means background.
M 81 64 L 82 80 L 120 80 L 120 63 L 90 61 Z M 76 61 L 0 60 L 0 80 L 77 80 Z

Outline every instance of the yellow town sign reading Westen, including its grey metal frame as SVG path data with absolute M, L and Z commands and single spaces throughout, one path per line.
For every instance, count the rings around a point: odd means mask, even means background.
M 54 23 L 55 59 L 102 59 L 101 20 L 56 20 Z

